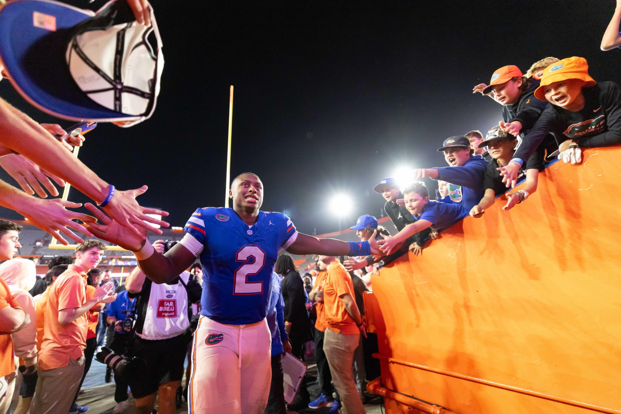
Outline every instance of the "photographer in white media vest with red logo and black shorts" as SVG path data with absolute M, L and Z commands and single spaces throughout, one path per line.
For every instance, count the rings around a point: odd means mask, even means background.
M 153 247 L 165 253 L 173 243 L 158 240 Z M 135 304 L 135 336 L 129 356 L 141 364 L 129 386 L 136 412 L 150 414 L 160 397 L 158 413 L 175 413 L 175 397 L 183 377 L 183 361 L 191 340 L 189 304 L 201 296 L 201 286 L 187 271 L 168 283 L 155 284 L 136 267 L 127 276 L 125 287 Z

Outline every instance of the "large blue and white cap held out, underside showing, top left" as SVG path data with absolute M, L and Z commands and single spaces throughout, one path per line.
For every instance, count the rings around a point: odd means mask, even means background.
M 0 8 L 0 60 L 17 91 L 47 114 L 134 125 L 153 114 L 160 89 L 153 19 L 138 25 L 124 1 L 97 13 L 51 0 L 10 1 Z M 117 47 L 123 30 L 127 44 Z M 140 36 L 151 31 L 155 48 Z

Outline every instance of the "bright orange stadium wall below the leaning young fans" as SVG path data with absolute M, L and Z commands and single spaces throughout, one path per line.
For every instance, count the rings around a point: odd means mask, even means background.
M 621 149 L 583 156 L 372 278 L 387 413 L 621 413 Z

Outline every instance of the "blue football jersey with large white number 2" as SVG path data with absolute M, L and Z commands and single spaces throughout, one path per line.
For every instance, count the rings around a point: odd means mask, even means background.
M 263 320 L 278 251 L 297 238 L 289 217 L 261 211 L 249 227 L 233 209 L 207 207 L 183 230 L 204 247 L 201 315 L 229 325 Z

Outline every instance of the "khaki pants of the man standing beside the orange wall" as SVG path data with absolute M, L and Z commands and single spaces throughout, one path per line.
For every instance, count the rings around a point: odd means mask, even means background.
M 356 384 L 353 380 L 353 354 L 358 348 L 360 333 L 343 335 L 325 330 L 324 352 L 330 365 L 332 382 L 341 397 L 342 414 L 365 413 L 365 407 L 360 400 Z

